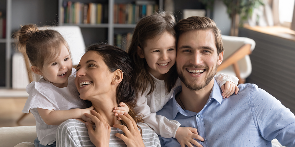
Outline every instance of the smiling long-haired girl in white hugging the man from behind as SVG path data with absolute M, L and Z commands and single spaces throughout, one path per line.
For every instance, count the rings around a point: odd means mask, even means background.
M 138 22 L 133 32 L 128 54 L 134 64 L 134 83 L 137 92 L 135 111 L 144 115 L 144 122 L 165 138 L 176 138 L 181 146 L 201 146 L 194 138 L 196 128 L 179 127 L 180 123 L 168 120 L 156 112 L 172 97 L 174 89 L 180 85 L 176 72 L 176 21 L 169 12 L 158 12 L 146 16 Z M 194 71 L 195 72 L 195 71 Z M 202 71 L 196 71 L 202 72 Z M 223 77 L 226 78 L 223 81 Z M 220 74 L 215 76 L 222 87 L 225 98 L 236 90 L 237 77 Z M 225 86 L 223 85 L 225 84 Z M 114 112 L 119 113 L 119 108 Z

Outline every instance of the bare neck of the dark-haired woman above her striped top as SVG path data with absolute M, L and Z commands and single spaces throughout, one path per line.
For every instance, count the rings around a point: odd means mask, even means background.
M 117 116 L 115 116 L 115 113 L 113 112 L 114 108 L 118 106 L 116 97 L 101 97 L 96 98 L 94 101 L 91 100 L 91 102 L 94 106 L 94 110 L 99 113 L 111 127 L 114 124 L 121 124 L 121 122 L 117 120 Z

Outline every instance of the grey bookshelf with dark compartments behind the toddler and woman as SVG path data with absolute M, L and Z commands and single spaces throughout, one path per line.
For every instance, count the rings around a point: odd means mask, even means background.
M 77 25 L 80 26 L 86 46 L 101 41 L 114 44 L 116 34 L 132 32 L 136 24 L 114 23 L 114 4 L 134 4 L 137 0 L 72 0 L 72 2 L 102 3 L 108 5 L 107 23 L 75 24 L 60 21 L 63 0 L 1 0 L 0 11 L 6 18 L 6 35 L 0 39 L 0 88 L 11 88 L 12 83 L 12 55 L 15 52 L 12 34 L 20 29 L 20 25 L 37 24 L 49 25 Z M 163 9 L 163 0 L 154 1 L 159 9 Z

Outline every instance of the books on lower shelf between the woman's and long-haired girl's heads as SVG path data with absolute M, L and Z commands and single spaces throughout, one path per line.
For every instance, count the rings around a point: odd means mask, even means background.
M 114 45 L 126 51 L 130 45 L 132 33 L 127 34 L 114 34 Z

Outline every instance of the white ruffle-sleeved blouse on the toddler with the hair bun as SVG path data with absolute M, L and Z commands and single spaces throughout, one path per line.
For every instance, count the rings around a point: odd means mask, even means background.
M 36 120 L 37 137 L 42 145 L 50 145 L 56 140 L 56 129 L 58 126 L 47 125 L 39 115 L 37 108 L 48 110 L 69 110 L 73 108 L 87 108 L 87 103 L 79 98 L 78 90 L 75 86 L 75 75 L 68 78 L 68 86 L 58 88 L 52 83 L 43 80 L 30 83 L 26 91 L 29 97 L 22 112 L 34 115 Z M 54 118 L 52 118 L 54 119 Z

